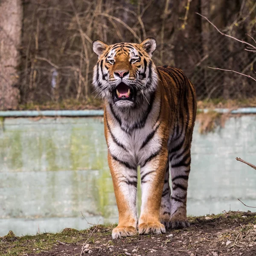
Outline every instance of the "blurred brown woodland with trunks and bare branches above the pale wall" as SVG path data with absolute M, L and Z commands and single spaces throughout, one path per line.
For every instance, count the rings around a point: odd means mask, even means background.
M 256 97 L 256 54 L 216 31 L 255 44 L 255 0 L 1 0 L 0 109 L 93 103 L 92 41 L 157 40 L 157 65 L 182 69 L 198 100 Z M 254 65 L 253 65 L 254 64 Z M 94 100 L 95 101 L 95 100 Z M 49 103 L 50 102 L 50 103 Z

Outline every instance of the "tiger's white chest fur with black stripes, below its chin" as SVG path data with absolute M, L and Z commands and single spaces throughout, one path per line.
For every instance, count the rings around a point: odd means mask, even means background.
M 148 156 L 161 147 L 162 140 L 157 132 L 160 101 L 154 99 L 150 103 L 151 106 L 147 102 L 140 109 L 127 112 L 119 112 L 110 105 L 106 107 L 113 124 L 111 133 L 114 134 L 114 138 L 108 137 L 108 149 L 112 155 L 134 168 L 143 165 Z

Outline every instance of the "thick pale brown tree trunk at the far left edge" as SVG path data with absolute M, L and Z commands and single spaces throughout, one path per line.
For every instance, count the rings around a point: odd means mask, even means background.
M 0 109 L 17 108 L 22 1 L 0 0 Z

